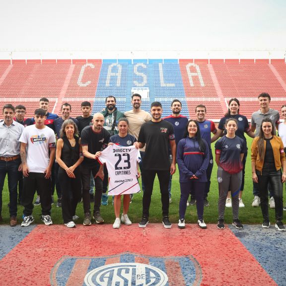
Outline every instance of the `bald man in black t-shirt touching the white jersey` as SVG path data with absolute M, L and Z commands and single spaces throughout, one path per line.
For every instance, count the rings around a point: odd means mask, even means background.
M 84 220 L 83 225 L 91 224 L 90 215 L 90 173 L 94 177 L 95 196 L 93 218 L 96 223 L 103 223 L 103 218 L 100 215 L 100 203 L 102 196 L 102 181 L 104 178 L 103 165 L 100 165 L 96 160 L 95 153 L 104 149 L 110 138 L 110 134 L 103 128 L 104 117 L 101 113 L 95 113 L 92 119 L 92 126 L 86 126 L 81 131 L 81 146 L 84 156 L 81 164 L 81 181 L 82 181 L 82 201 Z

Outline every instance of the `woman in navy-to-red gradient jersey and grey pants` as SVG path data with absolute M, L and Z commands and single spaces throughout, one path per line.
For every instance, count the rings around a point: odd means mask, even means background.
M 218 222 L 217 228 L 224 229 L 224 209 L 227 192 L 230 190 L 232 196 L 232 225 L 238 229 L 243 228 L 238 219 L 239 199 L 242 181 L 242 159 L 246 151 L 246 143 L 235 135 L 238 124 L 234 118 L 226 119 L 226 135 L 215 143 L 215 162 L 217 168 L 218 182 Z

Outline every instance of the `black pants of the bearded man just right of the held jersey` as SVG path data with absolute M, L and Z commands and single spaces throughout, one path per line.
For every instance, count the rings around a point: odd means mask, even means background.
M 170 179 L 169 170 L 143 170 L 145 191 L 143 193 L 143 216 L 149 216 L 149 208 L 151 203 L 151 196 L 153 191 L 154 179 L 157 174 L 162 202 L 162 214 L 163 216 L 169 215 L 169 192 L 168 185 Z

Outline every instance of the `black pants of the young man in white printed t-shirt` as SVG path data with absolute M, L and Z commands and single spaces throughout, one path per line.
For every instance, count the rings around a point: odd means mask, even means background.
M 33 200 L 36 190 L 41 197 L 41 207 L 43 215 L 51 215 L 51 178 L 46 179 L 44 173 L 29 173 L 28 177 L 23 177 L 23 206 L 24 215 L 31 215 L 33 212 Z

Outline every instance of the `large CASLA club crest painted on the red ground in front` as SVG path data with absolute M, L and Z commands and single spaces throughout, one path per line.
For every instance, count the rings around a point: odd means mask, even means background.
M 76 268 L 83 273 L 78 277 Z M 173 275 L 173 269 L 176 275 Z M 86 286 L 200 285 L 202 269 L 191 255 L 154 257 L 121 253 L 102 257 L 64 256 L 50 275 L 53 286 L 75 283 Z

